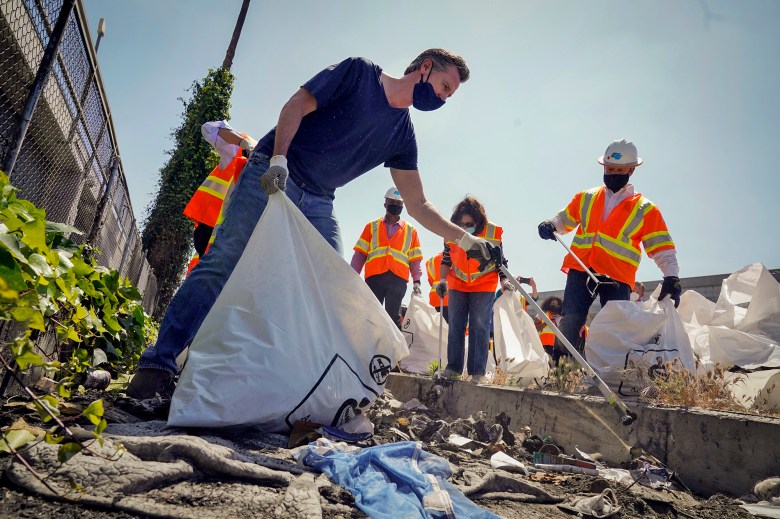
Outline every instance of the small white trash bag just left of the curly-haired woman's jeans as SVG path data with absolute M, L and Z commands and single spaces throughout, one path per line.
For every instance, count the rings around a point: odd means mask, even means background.
M 447 366 L 447 334 L 449 326 L 439 312 L 421 296 L 412 294 L 401 332 L 406 337 L 409 355 L 401 359 L 401 369 L 410 373 L 428 373 L 433 361 L 439 361 L 439 323 L 441 332 L 442 369 Z

